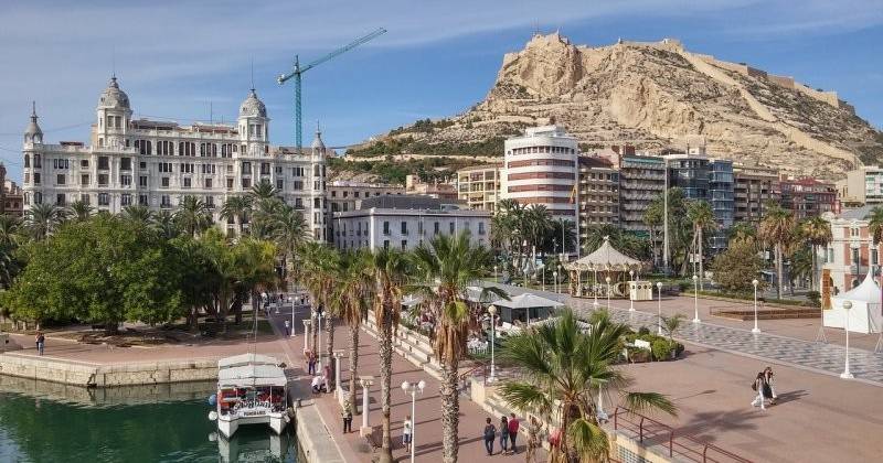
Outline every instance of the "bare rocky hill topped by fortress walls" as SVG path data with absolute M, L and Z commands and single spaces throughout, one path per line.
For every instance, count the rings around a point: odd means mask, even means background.
M 395 129 L 348 154 L 501 155 L 506 137 L 550 121 L 588 147 L 661 152 L 702 136 L 710 155 L 792 175 L 837 179 L 883 160 L 883 136 L 833 91 L 677 40 L 588 47 L 557 33 L 507 54 L 493 88 L 465 114 Z

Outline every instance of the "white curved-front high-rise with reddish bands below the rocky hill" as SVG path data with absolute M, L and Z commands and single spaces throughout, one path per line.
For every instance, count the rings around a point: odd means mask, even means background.
M 576 220 L 576 137 L 558 126 L 533 127 L 521 137 L 506 140 L 503 200 L 525 206 L 542 204 L 553 219 Z

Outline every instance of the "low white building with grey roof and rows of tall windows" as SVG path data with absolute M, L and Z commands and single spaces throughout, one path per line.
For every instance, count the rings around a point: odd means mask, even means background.
M 344 250 L 409 250 L 434 236 L 466 230 L 475 245 L 489 246 L 490 218 L 488 211 L 470 211 L 429 196 L 376 196 L 363 200 L 358 211 L 334 213 L 332 238 Z

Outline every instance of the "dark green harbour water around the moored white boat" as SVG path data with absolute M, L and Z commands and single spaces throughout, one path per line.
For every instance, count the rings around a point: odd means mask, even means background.
M 0 376 L 0 462 L 302 461 L 291 426 L 276 441 L 259 427 L 216 437 L 206 418 L 212 389 L 83 389 Z

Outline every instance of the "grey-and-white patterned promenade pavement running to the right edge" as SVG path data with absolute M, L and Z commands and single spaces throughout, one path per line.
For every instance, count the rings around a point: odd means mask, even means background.
M 513 294 L 524 292 L 524 290 L 521 288 L 506 287 L 506 289 Z M 542 291 L 534 290 L 531 290 L 530 292 L 562 300 L 584 315 L 594 310 L 593 300 L 571 298 L 568 295 L 555 294 L 553 292 L 544 293 Z M 675 311 L 687 315 L 687 319 L 674 335 L 674 337 L 679 340 L 701 346 L 763 359 L 766 362 L 796 366 L 798 368 L 806 368 L 828 375 L 840 375 L 843 372 L 843 366 L 845 363 L 845 348 L 838 344 L 816 343 L 813 341 L 785 337 L 765 332 L 754 334 L 747 329 L 710 323 L 708 321 L 708 315 L 705 321 L 702 323 L 692 323 L 692 319 L 694 316 L 692 299 L 677 298 L 677 301 L 681 306 L 677 308 Z M 598 303 L 600 308 L 604 308 L 606 306 L 607 301 L 599 300 Z M 620 300 L 616 301 L 616 303 L 611 303 L 610 315 L 614 320 L 621 323 L 628 323 L 636 329 L 640 326 L 647 326 L 652 333 L 656 332 L 657 322 L 659 320 L 658 315 L 656 313 L 642 311 L 649 309 L 650 304 L 641 304 L 642 310 L 637 310 L 638 304 L 636 304 L 635 312 L 629 312 L 627 305 L 621 306 L 623 304 L 628 304 L 628 302 Z M 708 305 L 708 303 L 705 303 L 705 305 Z M 656 306 L 653 306 L 653 309 L 656 309 Z M 671 313 L 670 310 L 669 313 Z M 708 309 L 705 310 L 705 313 L 708 313 Z M 702 313 L 700 313 L 700 319 L 702 319 Z M 717 320 L 719 319 L 715 319 L 715 322 Z M 764 322 L 765 324 L 773 323 L 773 321 Z M 866 381 L 875 386 L 883 386 L 883 354 L 874 354 L 870 351 L 851 347 L 850 369 L 852 374 L 855 375 L 857 380 Z

